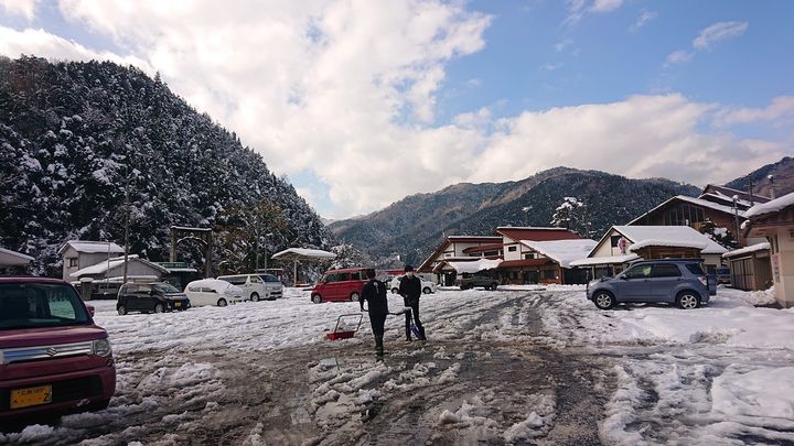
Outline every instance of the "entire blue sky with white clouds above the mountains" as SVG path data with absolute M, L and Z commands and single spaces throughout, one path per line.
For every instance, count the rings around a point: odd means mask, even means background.
M 0 54 L 160 73 L 320 215 L 564 165 L 794 154 L 794 2 L 0 0 Z

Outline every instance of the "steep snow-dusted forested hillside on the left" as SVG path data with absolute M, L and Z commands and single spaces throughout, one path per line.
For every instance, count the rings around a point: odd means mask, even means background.
M 292 185 L 159 77 L 0 57 L 0 247 L 60 275 L 61 244 L 122 243 L 128 215 L 131 252 L 155 261 L 168 260 L 171 225 L 216 228 L 217 260 L 239 268 L 253 249 L 331 244 Z M 201 262 L 201 250 L 182 246 L 180 259 Z

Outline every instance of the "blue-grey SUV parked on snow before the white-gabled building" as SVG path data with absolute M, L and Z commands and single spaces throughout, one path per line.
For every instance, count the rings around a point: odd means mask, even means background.
M 662 302 L 697 308 L 717 294 L 717 280 L 704 272 L 699 259 L 642 260 L 615 278 L 588 284 L 587 297 L 601 309 L 615 304 Z

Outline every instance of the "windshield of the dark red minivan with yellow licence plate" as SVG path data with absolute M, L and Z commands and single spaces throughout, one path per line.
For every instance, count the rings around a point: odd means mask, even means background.
M 0 329 L 90 324 L 74 289 L 52 283 L 0 284 Z

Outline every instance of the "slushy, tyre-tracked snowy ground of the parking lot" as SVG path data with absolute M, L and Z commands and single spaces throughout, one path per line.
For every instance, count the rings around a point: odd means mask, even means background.
M 443 290 L 422 297 L 430 340 L 357 303 L 276 302 L 162 315 L 95 302 L 118 365 L 108 410 L 0 434 L 0 443 L 794 443 L 794 311 L 720 289 L 708 307 L 598 311 L 583 289 Z M 391 308 L 401 307 L 391 297 Z

